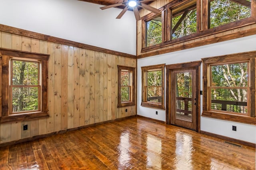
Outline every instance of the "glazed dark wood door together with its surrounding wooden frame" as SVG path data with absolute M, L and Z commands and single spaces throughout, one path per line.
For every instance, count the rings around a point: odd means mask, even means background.
M 186 67 L 187 66 L 187 67 Z M 200 62 L 166 65 L 167 124 L 199 130 Z

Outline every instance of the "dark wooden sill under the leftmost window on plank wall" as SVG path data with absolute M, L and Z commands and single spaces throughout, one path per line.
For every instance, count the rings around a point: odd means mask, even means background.
M 42 119 L 49 117 L 47 112 L 28 113 L 22 115 L 9 115 L 0 117 L 0 123 L 30 121 L 32 119 Z

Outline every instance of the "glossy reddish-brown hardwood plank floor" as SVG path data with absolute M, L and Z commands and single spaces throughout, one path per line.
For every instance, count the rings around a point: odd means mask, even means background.
M 0 148 L 0 169 L 255 169 L 255 148 L 132 117 Z

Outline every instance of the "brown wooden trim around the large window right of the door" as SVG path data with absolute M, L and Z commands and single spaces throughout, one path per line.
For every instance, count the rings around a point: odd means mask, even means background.
M 240 123 L 247 123 L 256 125 L 256 118 L 255 118 L 255 58 L 256 58 L 256 51 L 250 51 L 245 53 L 236 53 L 231 55 L 222 55 L 218 57 L 209 57 L 203 58 L 203 111 L 202 116 L 204 117 L 211 117 L 216 119 L 228 120 L 228 121 L 235 121 Z M 238 115 L 233 114 L 230 112 L 225 111 L 216 111 L 209 109 L 209 93 L 208 93 L 208 86 L 210 85 L 209 79 L 209 65 L 215 63 L 228 63 L 228 62 L 239 62 L 239 61 L 249 61 L 250 62 L 250 94 L 249 94 L 249 110 L 250 115 Z

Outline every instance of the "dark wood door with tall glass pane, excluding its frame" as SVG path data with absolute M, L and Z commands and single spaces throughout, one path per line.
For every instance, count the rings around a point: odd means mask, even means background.
M 171 71 L 171 124 L 196 130 L 196 71 Z

